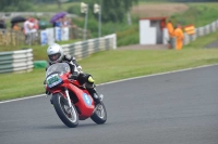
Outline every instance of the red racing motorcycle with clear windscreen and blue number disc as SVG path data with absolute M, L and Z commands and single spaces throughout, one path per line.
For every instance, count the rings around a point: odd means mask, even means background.
M 74 70 L 76 66 L 74 66 Z M 68 63 L 57 63 L 46 71 L 46 90 L 52 94 L 53 107 L 62 122 L 75 128 L 78 120 L 90 118 L 97 125 L 107 120 L 106 107 L 101 101 L 96 104 L 86 90 L 77 80 L 69 79 L 71 67 Z

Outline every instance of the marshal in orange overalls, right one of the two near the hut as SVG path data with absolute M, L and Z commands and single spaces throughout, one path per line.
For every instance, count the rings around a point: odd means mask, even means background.
M 175 49 L 181 50 L 183 45 L 183 31 L 182 31 L 182 26 L 180 23 L 177 24 L 177 28 L 174 29 L 174 37 L 175 37 Z

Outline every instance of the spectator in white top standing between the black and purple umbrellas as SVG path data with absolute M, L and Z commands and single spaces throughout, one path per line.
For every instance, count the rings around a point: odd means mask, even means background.
M 28 17 L 27 21 L 24 22 L 25 42 L 27 44 L 31 44 L 31 42 L 32 42 L 31 32 L 32 32 L 32 29 L 34 26 L 34 24 L 32 22 L 33 22 L 32 17 Z

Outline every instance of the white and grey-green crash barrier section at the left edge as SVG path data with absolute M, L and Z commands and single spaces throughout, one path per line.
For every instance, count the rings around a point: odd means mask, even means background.
M 33 67 L 32 49 L 0 52 L 0 73 L 31 71 Z

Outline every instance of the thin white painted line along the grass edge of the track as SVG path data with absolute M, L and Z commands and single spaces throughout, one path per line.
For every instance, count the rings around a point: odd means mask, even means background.
M 204 66 L 191 67 L 191 68 L 185 68 L 185 69 L 179 69 L 179 70 L 172 70 L 172 71 L 166 71 L 166 73 L 152 74 L 152 75 L 146 75 L 146 76 L 140 76 L 140 77 L 134 77 L 134 78 L 128 78 L 128 79 L 122 79 L 122 80 L 116 80 L 116 81 L 105 82 L 105 83 L 100 83 L 100 84 L 97 84 L 97 86 L 105 86 L 105 84 L 111 84 L 111 83 L 117 83 L 117 82 L 122 82 L 122 81 L 128 81 L 128 80 L 133 80 L 133 79 L 147 78 L 147 77 L 154 77 L 154 76 L 161 76 L 161 75 L 180 73 L 180 71 L 187 71 L 187 70 L 193 70 L 193 69 L 198 69 L 198 68 L 205 68 L 205 67 L 210 67 L 210 66 L 218 66 L 218 64 L 204 65 Z M 38 95 L 33 95 L 33 96 L 27 96 L 27 97 L 22 97 L 22 99 L 14 99 L 14 100 L 9 100 L 9 101 L 2 101 L 2 102 L 0 102 L 0 104 L 9 103 L 9 102 L 15 102 L 15 101 L 22 101 L 22 100 L 27 100 L 27 99 L 34 99 L 34 97 L 40 97 L 40 96 L 46 96 L 46 94 L 38 94 Z

